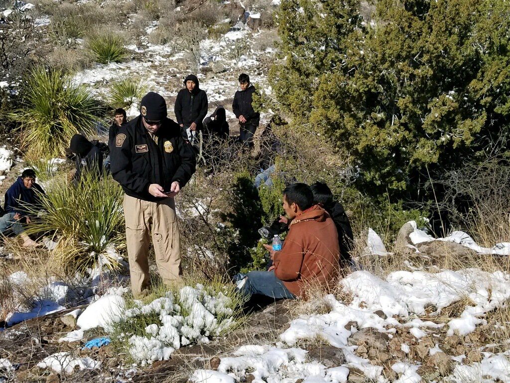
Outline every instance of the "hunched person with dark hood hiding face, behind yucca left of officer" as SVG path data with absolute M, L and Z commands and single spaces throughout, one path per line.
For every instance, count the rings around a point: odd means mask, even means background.
M 71 138 L 69 150 L 75 154 L 75 181 L 80 182 L 85 170 L 100 177 L 103 173 L 103 154 L 98 147 L 81 134 L 75 134 Z

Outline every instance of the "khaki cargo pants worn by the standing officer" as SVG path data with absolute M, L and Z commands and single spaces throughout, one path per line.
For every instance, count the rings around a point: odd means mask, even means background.
M 150 235 L 163 282 L 179 280 L 182 269 L 174 199 L 149 202 L 124 195 L 124 218 L 133 295 L 149 287 Z

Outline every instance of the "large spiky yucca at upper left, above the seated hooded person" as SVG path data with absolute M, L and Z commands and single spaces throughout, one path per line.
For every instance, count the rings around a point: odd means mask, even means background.
M 34 69 L 21 107 L 9 114 L 19 123 L 21 147 L 27 154 L 63 156 L 73 134 L 93 130 L 97 111 L 91 93 L 72 83 L 61 69 Z

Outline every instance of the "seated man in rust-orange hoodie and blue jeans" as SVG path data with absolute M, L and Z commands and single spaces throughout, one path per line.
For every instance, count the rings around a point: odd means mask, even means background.
M 282 250 L 271 254 L 269 271 L 251 271 L 236 276 L 245 295 L 262 294 L 274 299 L 303 297 L 310 285 L 328 286 L 338 276 L 338 234 L 335 223 L 319 205 L 314 205 L 310 187 L 294 183 L 283 193 L 290 224 Z M 244 277 L 244 278 L 243 278 Z

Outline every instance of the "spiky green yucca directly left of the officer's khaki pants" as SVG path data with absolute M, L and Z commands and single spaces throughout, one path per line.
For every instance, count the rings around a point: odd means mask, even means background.
M 27 229 L 29 234 L 52 235 L 57 246 L 52 258 L 67 270 L 86 271 L 98 262 L 109 268 L 119 265 L 110 245 L 125 246 L 122 188 L 111 177 L 97 179 L 82 173 L 77 186 L 65 173 L 41 198 L 44 214 Z M 30 207 L 34 215 L 38 208 Z

